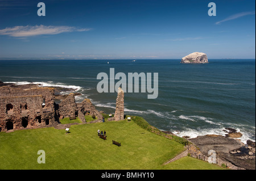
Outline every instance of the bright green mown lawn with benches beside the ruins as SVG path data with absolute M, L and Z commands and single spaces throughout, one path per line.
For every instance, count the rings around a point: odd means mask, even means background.
M 107 140 L 97 136 L 106 131 Z M 183 145 L 142 129 L 134 121 L 72 125 L 71 133 L 55 128 L 0 132 L 1 169 L 220 169 L 185 157 L 163 163 L 184 150 Z M 121 142 L 120 147 L 112 140 Z M 46 152 L 39 164 L 38 150 Z

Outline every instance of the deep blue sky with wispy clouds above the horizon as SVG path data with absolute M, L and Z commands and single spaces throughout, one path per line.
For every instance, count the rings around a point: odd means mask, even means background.
M 255 58 L 252 0 L 0 0 L 0 17 L 1 59 Z

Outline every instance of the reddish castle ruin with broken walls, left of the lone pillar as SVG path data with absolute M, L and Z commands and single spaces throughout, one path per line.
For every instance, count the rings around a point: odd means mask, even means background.
M 96 121 L 102 120 L 101 113 L 89 99 L 76 103 L 72 93 L 56 104 L 53 88 L 0 86 L 0 132 L 55 127 L 60 124 L 59 119 L 64 117 L 79 117 L 82 123 L 86 123 L 85 114 L 96 116 Z

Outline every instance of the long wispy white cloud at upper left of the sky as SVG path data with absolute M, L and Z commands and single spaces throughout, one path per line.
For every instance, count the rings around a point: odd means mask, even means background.
M 76 28 L 69 26 L 15 26 L 0 30 L 0 35 L 8 35 L 13 37 L 29 37 L 40 35 L 56 35 L 63 32 L 74 31 L 90 31 L 92 28 Z

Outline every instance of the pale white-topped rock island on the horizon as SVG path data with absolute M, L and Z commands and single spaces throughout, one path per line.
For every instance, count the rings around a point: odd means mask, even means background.
M 208 63 L 207 54 L 194 52 L 183 57 L 180 61 L 182 64 L 205 64 Z

